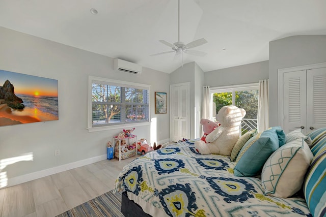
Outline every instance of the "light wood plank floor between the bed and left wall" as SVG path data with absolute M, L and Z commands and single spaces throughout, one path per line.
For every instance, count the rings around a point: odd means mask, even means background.
M 52 217 L 114 188 L 136 157 L 104 160 L 0 189 L 0 217 Z

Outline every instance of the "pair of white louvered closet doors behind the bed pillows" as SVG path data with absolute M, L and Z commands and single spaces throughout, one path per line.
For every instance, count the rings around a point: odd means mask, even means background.
M 286 133 L 326 127 L 326 64 L 279 70 L 279 123 Z

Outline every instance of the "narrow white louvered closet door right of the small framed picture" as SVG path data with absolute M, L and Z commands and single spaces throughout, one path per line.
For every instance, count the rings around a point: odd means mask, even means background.
M 189 85 L 171 85 L 171 141 L 189 139 Z

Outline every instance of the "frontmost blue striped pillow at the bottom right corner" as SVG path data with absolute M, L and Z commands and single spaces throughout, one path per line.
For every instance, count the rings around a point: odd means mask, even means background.
M 326 216 L 326 146 L 315 155 L 304 182 L 304 195 L 313 216 Z

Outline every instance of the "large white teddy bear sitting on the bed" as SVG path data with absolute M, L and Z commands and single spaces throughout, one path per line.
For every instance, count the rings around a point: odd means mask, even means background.
M 230 156 L 234 144 L 239 139 L 239 126 L 246 111 L 236 106 L 224 106 L 216 114 L 221 126 L 206 136 L 206 142 L 195 142 L 196 150 L 201 154 L 223 154 Z

